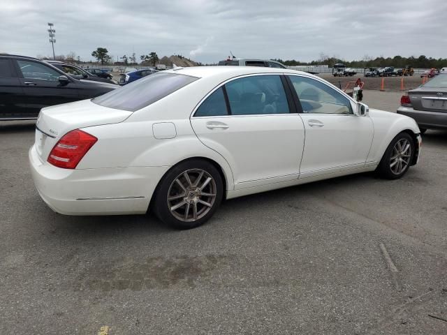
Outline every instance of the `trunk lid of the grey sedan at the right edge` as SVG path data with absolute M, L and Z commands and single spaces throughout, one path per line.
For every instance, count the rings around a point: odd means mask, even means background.
M 409 91 L 414 110 L 429 112 L 447 112 L 447 89 L 436 87 L 419 87 Z

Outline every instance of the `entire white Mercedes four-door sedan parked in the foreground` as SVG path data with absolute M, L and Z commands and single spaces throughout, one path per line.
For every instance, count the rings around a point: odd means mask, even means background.
M 402 177 L 420 131 L 308 73 L 201 66 L 45 107 L 29 150 L 38 193 L 68 215 L 205 223 L 223 199 L 376 170 Z

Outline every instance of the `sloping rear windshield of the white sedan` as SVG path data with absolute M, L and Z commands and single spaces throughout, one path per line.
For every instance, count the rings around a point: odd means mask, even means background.
M 198 80 L 197 77 L 190 75 L 154 73 L 126 84 L 124 87 L 114 89 L 103 96 L 98 96 L 92 101 L 104 107 L 135 112 L 196 80 Z

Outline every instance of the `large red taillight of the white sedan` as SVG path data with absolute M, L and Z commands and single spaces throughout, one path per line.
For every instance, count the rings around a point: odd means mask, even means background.
M 47 161 L 58 168 L 74 169 L 97 140 L 93 135 L 75 129 L 62 136 Z

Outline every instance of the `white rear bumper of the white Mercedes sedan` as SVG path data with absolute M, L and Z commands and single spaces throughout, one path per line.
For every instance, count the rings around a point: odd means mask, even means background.
M 37 191 L 54 211 L 66 215 L 144 214 L 168 167 L 68 170 L 43 163 L 29 150 Z

